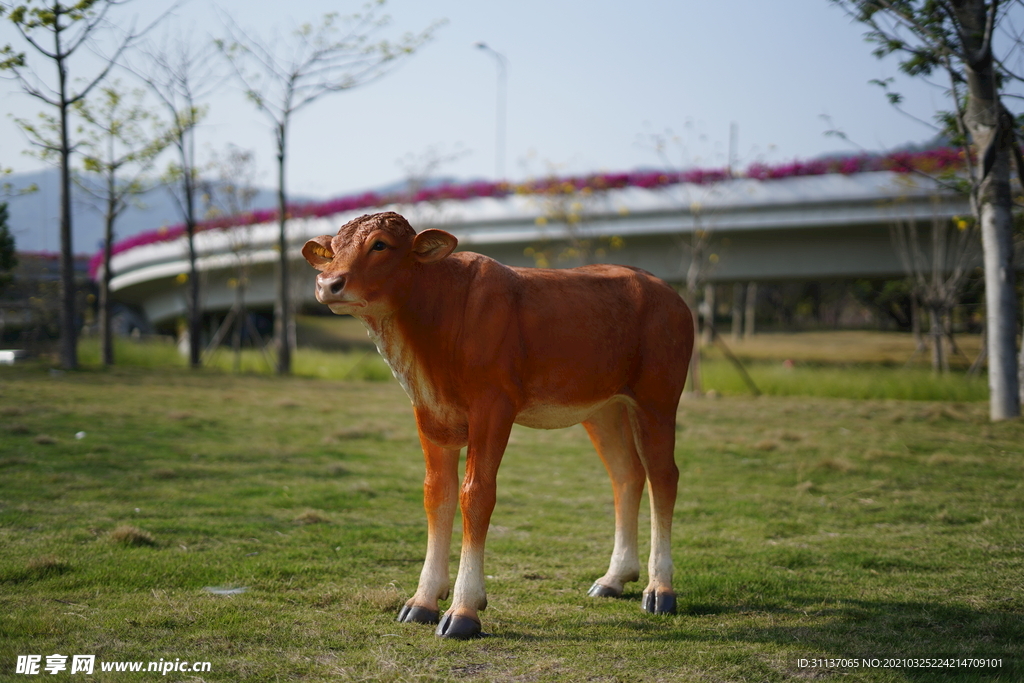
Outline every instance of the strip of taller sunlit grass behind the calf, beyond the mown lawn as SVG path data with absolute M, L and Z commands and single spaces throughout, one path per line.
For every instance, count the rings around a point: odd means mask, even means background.
M 390 380 L 391 372 L 367 339 L 358 321 L 346 316 L 299 317 L 303 345 L 293 356 L 293 372 L 301 377 L 331 380 Z M 953 371 L 933 373 L 928 353 L 914 354 L 911 335 L 884 332 L 771 333 L 728 343 L 745 366 L 758 388 L 774 396 L 833 398 L 898 398 L 905 400 L 981 401 L 988 397 L 987 379 L 968 376 L 966 368 L 980 348 L 980 338 L 962 336 L 958 345 L 968 355 L 953 358 Z M 118 339 L 119 366 L 184 368 L 186 359 L 173 343 Z M 703 390 L 727 396 L 751 393 L 741 375 L 718 346 L 702 354 Z M 99 344 L 87 338 L 80 359 L 99 366 Z M 785 360 L 788 364 L 783 365 Z M 909 361 L 909 362 L 908 362 Z M 233 372 L 234 356 L 221 348 L 204 364 Z M 272 374 L 269 355 L 247 348 L 241 355 L 243 374 Z

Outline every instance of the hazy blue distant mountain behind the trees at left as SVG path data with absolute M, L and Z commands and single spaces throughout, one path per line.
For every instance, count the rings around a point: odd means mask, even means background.
M 15 189 L 35 184 L 38 190 L 30 195 L 11 197 L 7 202 L 7 225 L 14 236 L 14 247 L 19 252 L 60 251 L 60 190 L 59 173 L 56 169 L 37 173 L 22 173 L 4 178 Z M 92 255 L 102 246 L 103 216 L 95 208 L 98 203 L 78 187 L 73 188 L 72 198 L 72 245 L 76 254 Z M 290 202 L 304 203 L 319 201 L 321 198 L 290 197 Z M 163 225 L 181 223 L 177 204 L 166 188 L 153 189 L 138 198 L 140 206 L 134 206 L 118 218 L 115 241 L 153 230 Z M 253 209 L 267 209 L 276 206 L 274 189 L 259 189 L 253 201 Z M 202 209 L 200 209 L 202 214 Z

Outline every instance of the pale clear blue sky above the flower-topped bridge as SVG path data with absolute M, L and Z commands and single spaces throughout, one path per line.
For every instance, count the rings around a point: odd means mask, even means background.
M 136 0 L 116 10 L 123 23 L 168 3 Z M 357 2 L 220 0 L 217 6 L 254 34 L 287 32 Z M 497 68 L 473 44 L 484 41 L 509 63 L 507 175 L 620 171 L 658 165 L 645 133 L 672 129 L 678 165 L 721 166 L 729 126 L 738 130 L 741 166 L 851 150 L 826 137 L 833 125 L 858 144 L 886 150 L 934 131 L 893 110 L 871 79 L 897 76 L 827 0 L 390 0 L 393 33 L 446 19 L 433 42 L 385 79 L 326 96 L 298 115 L 288 164 L 290 190 L 331 197 L 403 177 L 398 161 L 467 151 L 441 169 L 461 178 L 495 174 Z M 176 10 L 198 39 L 222 34 L 212 3 Z M 6 24 L 6 23 L 4 23 Z M 159 34 L 159 31 L 158 31 Z M 0 44 L 20 46 L 9 25 Z M 49 65 L 47 65 L 48 67 Z M 49 77 L 48 73 L 45 73 Z M 74 74 L 73 74 L 74 75 Z M 925 119 L 944 106 L 941 89 L 897 78 L 907 108 Z M 35 101 L 0 81 L 4 114 L 33 116 Z M 260 183 L 272 185 L 273 144 L 256 110 L 227 81 L 209 102 L 203 150 L 228 142 L 256 152 Z M 829 124 L 822 117 L 830 117 Z M 0 118 L 0 165 L 29 171 L 22 133 Z

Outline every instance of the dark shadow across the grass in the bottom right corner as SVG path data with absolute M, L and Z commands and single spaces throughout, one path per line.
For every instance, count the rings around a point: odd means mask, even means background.
M 624 595 L 639 600 L 639 592 Z M 595 603 L 599 604 L 599 603 Z M 598 610 L 599 611 L 599 610 Z M 638 610 L 639 611 L 639 610 Z M 720 618 L 716 618 L 720 617 Z M 497 628 L 493 637 L 509 641 L 545 640 L 587 642 L 614 639 L 628 631 L 635 641 L 678 649 L 683 643 L 700 651 L 720 649 L 723 656 L 732 645 L 744 645 L 742 656 L 763 648 L 766 659 L 784 667 L 796 678 L 828 678 L 863 672 L 863 667 L 801 668 L 801 658 L 877 660 L 874 668 L 890 670 L 906 681 L 1022 681 L 1024 680 L 1024 618 L 1020 613 L 977 610 L 934 602 L 841 600 L 807 597 L 785 604 L 716 604 L 693 602 L 680 605 L 680 613 L 663 617 L 637 613 L 606 618 L 594 613 L 580 629 L 545 636 L 538 631 Z M 486 628 L 486 627 L 485 627 Z M 676 648 L 672 648 L 676 645 Z M 780 656 L 781 655 L 781 656 Z M 908 666 L 887 659 L 959 659 L 951 668 Z M 978 659 L 1000 660 L 998 667 L 982 667 Z M 964 660 L 974 660 L 966 666 Z M 920 663 L 919 663 L 920 664 Z M 775 666 L 778 666 L 776 664 Z

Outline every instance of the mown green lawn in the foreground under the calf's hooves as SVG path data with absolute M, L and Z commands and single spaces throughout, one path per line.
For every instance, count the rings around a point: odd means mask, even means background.
M 0 368 L 0 680 L 52 653 L 211 663 L 169 681 L 1021 680 L 1024 422 L 974 399 L 723 393 L 680 407 L 677 615 L 642 612 L 643 582 L 586 596 L 606 475 L 582 428 L 516 428 L 493 637 L 447 642 L 394 621 L 426 544 L 395 382 Z M 939 655 L 1004 667 L 798 666 Z

